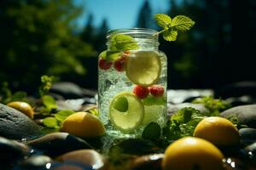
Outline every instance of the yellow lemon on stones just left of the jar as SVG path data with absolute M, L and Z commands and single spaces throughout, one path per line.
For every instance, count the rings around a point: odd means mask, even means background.
M 99 137 L 106 132 L 100 119 L 88 112 L 77 112 L 67 116 L 62 123 L 61 131 L 81 138 Z

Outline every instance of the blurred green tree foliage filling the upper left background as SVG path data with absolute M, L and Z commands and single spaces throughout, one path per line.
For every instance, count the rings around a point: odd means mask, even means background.
M 0 81 L 31 89 L 44 74 L 86 73 L 81 60 L 95 52 L 74 33 L 81 8 L 72 0 L 4 1 L 0 11 Z

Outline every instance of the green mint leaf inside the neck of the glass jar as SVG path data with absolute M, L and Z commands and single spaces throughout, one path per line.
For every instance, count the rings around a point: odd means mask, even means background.
M 113 51 L 126 51 L 138 48 L 137 42 L 133 37 L 123 34 L 113 35 L 109 46 L 110 50 Z

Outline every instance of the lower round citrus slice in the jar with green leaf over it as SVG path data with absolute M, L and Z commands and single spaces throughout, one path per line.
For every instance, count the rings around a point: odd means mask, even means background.
M 117 129 L 129 133 L 143 122 L 143 117 L 143 103 L 135 94 L 122 92 L 113 97 L 109 106 L 109 118 Z

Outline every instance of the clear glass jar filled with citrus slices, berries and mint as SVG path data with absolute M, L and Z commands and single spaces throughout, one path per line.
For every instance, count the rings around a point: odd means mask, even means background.
M 108 31 L 107 57 L 98 61 L 98 106 L 110 135 L 139 137 L 150 122 L 166 125 L 166 54 L 157 31 Z

